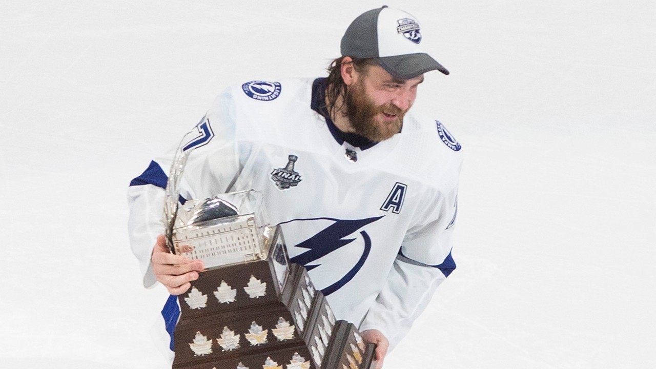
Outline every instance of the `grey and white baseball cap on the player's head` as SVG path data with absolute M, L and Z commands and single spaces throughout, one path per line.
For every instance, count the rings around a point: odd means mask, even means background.
M 426 53 L 417 18 L 386 5 L 364 12 L 342 37 L 342 56 L 374 58 L 384 70 L 411 79 L 430 70 L 449 71 Z

